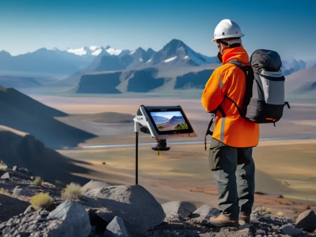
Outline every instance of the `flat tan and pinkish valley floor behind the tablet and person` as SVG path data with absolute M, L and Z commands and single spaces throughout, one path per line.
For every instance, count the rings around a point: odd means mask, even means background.
M 33 96 L 34 99 L 71 114 L 121 112 L 135 114 L 141 99 L 122 98 L 62 98 Z M 203 141 L 210 115 L 199 100 L 170 100 L 146 98 L 148 106 L 182 105 L 198 137 Z M 316 208 L 316 105 L 292 104 L 284 109 L 284 116 L 276 127 L 260 126 L 261 142 L 254 148 L 256 164 L 255 206 L 264 205 L 273 213 L 283 211 L 293 217 L 309 207 Z M 74 116 L 73 118 L 76 118 Z M 67 121 L 66 121 L 67 120 Z M 113 184 L 135 182 L 135 147 L 82 149 L 88 145 L 133 144 L 133 123 L 97 123 L 66 119 L 64 122 L 99 137 L 80 144 L 81 148 L 58 150 L 78 161 L 90 173 L 74 173 L 88 179 L 104 180 Z M 290 141 L 264 141 L 269 139 Z M 301 140 L 309 139 L 309 140 Z M 314 140 L 313 140 L 314 139 Z M 172 141 L 187 141 L 173 139 Z M 208 141 L 210 137 L 208 137 Z M 141 142 L 155 142 L 140 136 Z M 171 142 L 171 139 L 167 142 Z M 81 162 L 80 161 L 86 161 Z M 103 164 L 105 162 L 105 164 Z M 146 187 L 161 203 L 169 200 L 191 201 L 217 206 L 216 184 L 208 165 L 208 151 L 204 144 L 171 145 L 169 151 L 157 152 L 148 146 L 139 147 L 139 184 Z M 281 195 L 281 196 L 280 196 Z

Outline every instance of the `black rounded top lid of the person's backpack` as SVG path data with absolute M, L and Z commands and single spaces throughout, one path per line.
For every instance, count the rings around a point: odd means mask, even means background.
M 258 49 L 253 52 L 250 56 L 250 64 L 257 73 L 261 71 L 281 72 L 282 67 L 280 55 L 275 51 L 266 49 Z

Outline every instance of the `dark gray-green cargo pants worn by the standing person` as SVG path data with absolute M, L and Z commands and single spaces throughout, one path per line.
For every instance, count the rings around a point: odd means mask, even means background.
M 230 147 L 212 138 L 209 164 L 216 179 L 222 214 L 238 219 L 240 211 L 251 213 L 255 191 L 252 148 Z

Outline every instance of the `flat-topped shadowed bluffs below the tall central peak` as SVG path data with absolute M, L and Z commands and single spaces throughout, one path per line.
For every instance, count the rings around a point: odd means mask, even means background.
M 193 72 L 180 68 L 167 72 L 153 67 L 143 70 L 90 73 L 81 77 L 76 93 L 118 94 L 147 93 L 159 89 L 202 89 L 214 71 L 212 68 L 194 68 Z

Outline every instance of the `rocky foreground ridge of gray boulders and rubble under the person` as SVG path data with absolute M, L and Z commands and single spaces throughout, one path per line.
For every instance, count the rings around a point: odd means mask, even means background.
M 9 181 L 5 179 L 0 184 L 12 183 L 13 172 Z M 197 208 L 195 204 L 182 201 L 161 205 L 141 185 L 110 186 L 107 183 L 91 181 L 83 188 L 85 193 L 81 201 L 62 200 L 54 196 L 54 210 L 34 211 L 30 207 L 27 208 L 27 201 L 19 200 L 23 195 L 34 192 L 22 184 L 18 185 L 19 187 L 11 184 L 11 192 L 15 195 L 0 195 L 0 217 L 3 213 L 8 215 L 1 219 L 0 236 L 316 236 L 316 215 L 313 210 L 301 213 L 296 221 L 267 213 L 252 213 L 250 224 L 240 223 L 236 228 L 212 228 L 207 220 L 220 214 L 216 208 L 208 205 Z M 20 209 L 11 211 L 12 216 L 5 211 L 7 198 L 10 198 L 11 208 L 15 206 L 13 200 L 23 202 L 19 204 Z M 19 214 L 17 211 L 24 213 Z

